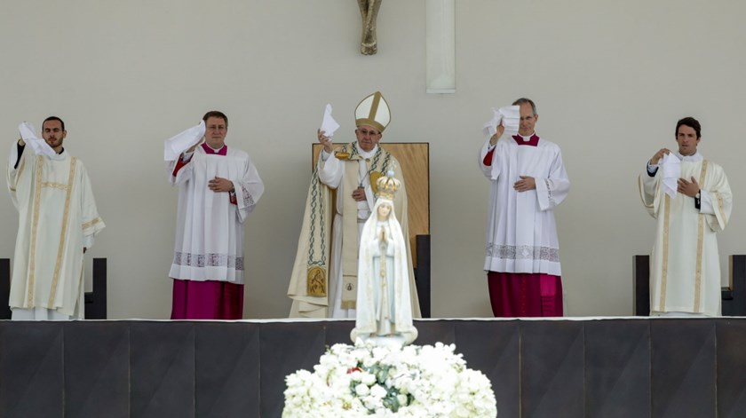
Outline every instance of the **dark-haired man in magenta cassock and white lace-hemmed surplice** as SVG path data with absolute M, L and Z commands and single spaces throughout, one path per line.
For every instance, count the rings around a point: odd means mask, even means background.
M 210 111 L 165 144 L 179 186 L 171 319 L 243 317 L 243 222 L 264 184 L 249 154 L 226 146 L 227 130 L 226 114 Z

